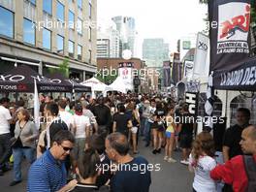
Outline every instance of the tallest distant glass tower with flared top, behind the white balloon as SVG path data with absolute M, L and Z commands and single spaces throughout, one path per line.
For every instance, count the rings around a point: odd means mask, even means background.
M 135 19 L 130 16 L 114 16 L 112 21 L 116 24 L 116 29 L 120 35 L 119 42 L 119 57 L 121 57 L 122 50 L 130 49 L 132 56 L 135 56 L 136 45 L 136 28 Z

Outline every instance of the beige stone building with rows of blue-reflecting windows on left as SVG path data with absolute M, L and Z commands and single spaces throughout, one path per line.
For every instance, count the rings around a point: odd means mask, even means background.
M 27 64 L 39 73 L 69 59 L 73 78 L 96 72 L 95 0 L 0 0 L 0 73 Z

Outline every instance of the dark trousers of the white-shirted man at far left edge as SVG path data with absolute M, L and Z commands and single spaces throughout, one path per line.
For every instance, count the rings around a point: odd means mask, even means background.
M 10 140 L 10 133 L 0 135 L 0 170 L 9 161 L 9 158 L 12 155 Z

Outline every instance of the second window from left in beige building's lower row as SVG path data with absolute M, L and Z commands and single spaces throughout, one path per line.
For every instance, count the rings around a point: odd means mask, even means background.
M 23 20 L 23 41 L 27 44 L 35 46 L 35 25 L 31 20 L 24 18 Z

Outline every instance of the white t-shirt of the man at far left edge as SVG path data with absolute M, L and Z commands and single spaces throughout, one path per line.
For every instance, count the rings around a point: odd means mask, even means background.
M 0 106 L 0 135 L 10 133 L 10 123 L 12 119 L 11 113 L 4 106 Z

